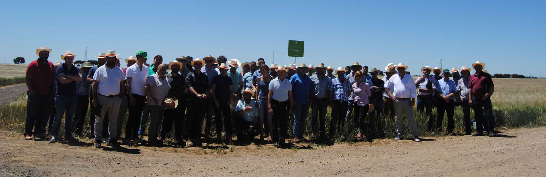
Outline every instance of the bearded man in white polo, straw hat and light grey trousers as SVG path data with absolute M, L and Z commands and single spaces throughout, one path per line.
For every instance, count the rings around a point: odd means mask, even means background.
M 108 50 L 106 52 L 106 64 L 99 67 L 93 75 L 93 85 L 91 94 L 93 95 L 92 104 L 94 107 L 100 106 L 100 117 L 95 118 L 95 147 L 100 148 L 102 143 L 103 119 L 108 113 L 108 117 L 116 117 L 120 109 L 121 98 L 125 91 L 126 77 L 121 68 L 115 66 L 116 51 Z M 108 125 L 109 140 L 108 145 L 119 147 L 117 143 L 117 119 L 111 119 Z

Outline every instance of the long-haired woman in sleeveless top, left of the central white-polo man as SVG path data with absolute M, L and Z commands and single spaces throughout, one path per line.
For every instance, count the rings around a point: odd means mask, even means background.
M 266 124 L 266 127 L 267 128 L 267 131 L 268 132 L 271 132 L 271 115 L 268 114 L 268 108 L 269 108 L 269 105 L 268 105 L 268 94 L 269 94 L 269 82 L 271 82 L 271 80 L 273 79 L 270 75 L 269 75 L 269 67 L 267 65 L 263 65 L 262 67 L 260 67 L 260 72 L 262 73 L 262 76 L 259 76 L 257 79 L 256 79 L 256 82 L 258 83 L 256 86 L 257 86 L 257 89 L 256 89 L 256 92 L 258 92 L 258 112 L 259 112 L 259 115 L 260 115 L 260 121 L 258 123 L 258 125 L 260 125 L 259 127 L 259 131 L 260 131 L 260 140 L 263 141 L 264 140 L 264 128 L 261 126 L 264 124 L 264 119 L 267 121 L 267 124 Z M 269 134 L 269 139 L 268 141 L 271 141 L 271 134 Z

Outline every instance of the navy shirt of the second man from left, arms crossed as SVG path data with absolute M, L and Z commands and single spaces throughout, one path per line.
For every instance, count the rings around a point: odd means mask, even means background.
M 72 69 L 68 69 L 68 66 L 63 63 L 61 66 L 57 67 L 57 71 L 55 73 L 55 81 L 57 82 L 57 88 L 56 88 L 56 96 L 76 96 L 76 82 L 68 82 L 67 84 L 62 84 L 61 81 L 59 81 L 60 75 L 79 75 L 80 68 L 72 65 Z

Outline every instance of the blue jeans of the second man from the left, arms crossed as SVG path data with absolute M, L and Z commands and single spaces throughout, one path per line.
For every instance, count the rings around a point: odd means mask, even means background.
M 55 119 L 53 120 L 52 136 L 58 137 L 61 121 L 64 116 L 64 138 L 72 137 L 72 121 L 74 120 L 74 112 L 78 107 L 78 97 L 76 96 L 57 96 L 55 97 Z

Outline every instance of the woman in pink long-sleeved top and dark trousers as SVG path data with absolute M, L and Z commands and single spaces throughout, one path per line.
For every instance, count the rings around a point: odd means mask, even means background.
M 354 73 L 354 79 L 357 80 L 353 84 L 353 94 L 354 94 L 354 127 L 360 128 L 357 129 L 357 135 L 355 138 L 361 138 L 366 140 L 366 135 L 368 137 L 373 137 L 375 130 L 375 123 L 373 122 L 372 117 L 366 120 L 366 115 L 368 114 L 369 107 L 369 98 L 372 96 L 370 91 L 370 84 L 364 81 L 364 74 L 361 71 Z M 370 130 L 370 131 L 369 131 Z

